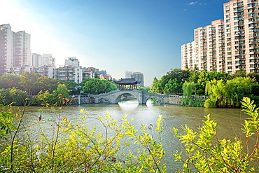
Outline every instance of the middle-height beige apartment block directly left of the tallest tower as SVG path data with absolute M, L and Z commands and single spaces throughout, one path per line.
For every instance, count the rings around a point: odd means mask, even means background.
M 195 64 L 199 71 L 225 71 L 224 22 L 214 20 L 211 25 L 194 29 Z

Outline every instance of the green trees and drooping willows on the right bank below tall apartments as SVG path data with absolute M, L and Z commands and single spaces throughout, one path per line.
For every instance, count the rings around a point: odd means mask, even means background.
M 190 71 L 172 69 L 160 80 L 154 78 L 149 92 L 183 95 L 183 105 L 204 107 L 239 107 L 243 97 L 250 97 L 258 104 L 259 74 L 236 74 L 216 71 Z M 195 96 L 209 99 L 195 99 Z

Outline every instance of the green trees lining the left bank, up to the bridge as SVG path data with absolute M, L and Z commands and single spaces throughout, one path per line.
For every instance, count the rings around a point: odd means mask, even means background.
M 86 78 L 82 83 L 75 83 L 23 71 L 20 76 L 13 74 L 0 76 L 0 104 L 24 105 L 27 102 L 55 105 L 61 103 L 60 97 L 64 104 L 69 102 L 67 99 L 69 95 L 79 95 L 81 90 L 85 94 L 100 94 L 117 89 L 118 86 L 113 81 L 106 79 Z

